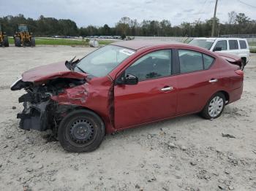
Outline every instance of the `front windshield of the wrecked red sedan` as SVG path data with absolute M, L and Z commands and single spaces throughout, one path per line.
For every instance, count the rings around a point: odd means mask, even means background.
M 134 53 L 134 50 L 108 45 L 82 58 L 74 71 L 83 71 L 95 77 L 104 77 Z

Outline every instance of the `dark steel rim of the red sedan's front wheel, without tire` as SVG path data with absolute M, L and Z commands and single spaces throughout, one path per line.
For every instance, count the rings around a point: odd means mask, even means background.
M 78 144 L 84 144 L 94 136 L 94 126 L 88 120 L 75 120 L 69 128 L 70 138 Z

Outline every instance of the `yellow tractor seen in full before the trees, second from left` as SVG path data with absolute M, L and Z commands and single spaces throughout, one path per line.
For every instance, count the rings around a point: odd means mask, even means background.
M 36 45 L 35 39 L 32 33 L 29 33 L 28 26 L 25 24 L 18 24 L 18 31 L 13 36 L 15 47 L 34 47 Z

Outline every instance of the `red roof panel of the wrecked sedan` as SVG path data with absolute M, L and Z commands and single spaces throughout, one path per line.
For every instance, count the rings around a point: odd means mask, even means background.
M 173 44 L 184 44 L 181 42 L 165 42 L 165 41 L 148 41 L 148 40 L 129 40 L 129 41 L 119 41 L 114 42 L 112 45 L 119 47 L 126 47 L 132 50 L 139 50 L 144 47 L 156 47 L 161 45 L 173 45 Z M 186 44 L 187 45 L 187 44 Z

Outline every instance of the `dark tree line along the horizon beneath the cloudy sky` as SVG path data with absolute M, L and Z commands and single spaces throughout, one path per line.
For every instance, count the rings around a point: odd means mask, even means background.
M 192 23 L 181 23 L 172 26 L 170 20 L 143 20 L 121 17 L 115 26 L 87 26 L 80 27 L 69 19 L 56 19 L 41 15 L 37 20 L 26 18 L 24 15 L 8 15 L 0 17 L 2 30 L 12 36 L 17 31 L 18 23 L 29 26 L 29 31 L 35 36 L 210 36 L 213 18 L 209 20 L 195 20 Z M 214 35 L 223 34 L 255 34 L 256 20 L 252 20 L 244 13 L 229 12 L 228 20 L 220 23 L 215 20 Z

